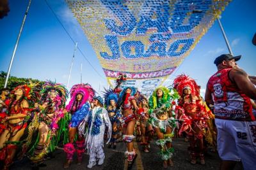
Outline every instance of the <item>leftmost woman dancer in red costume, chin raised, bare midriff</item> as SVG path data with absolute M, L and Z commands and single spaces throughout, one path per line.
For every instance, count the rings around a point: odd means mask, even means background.
M 0 137 L 0 158 L 4 160 L 4 169 L 8 169 L 13 162 L 13 157 L 27 127 L 29 116 L 29 103 L 31 88 L 28 85 L 20 85 L 12 90 L 8 115 L 4 119 L 6 129 Z

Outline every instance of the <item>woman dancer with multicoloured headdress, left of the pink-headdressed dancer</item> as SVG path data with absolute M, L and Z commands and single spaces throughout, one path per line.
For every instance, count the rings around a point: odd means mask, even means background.
M 38 138 L 35 144 L 29 150 L 33 168 L 37 169 L 42 164 L 44 155 L 53 152 L 56 146 L 56 132 L 58 130 L 58 121 L 64 116 L 63 108 L 67 97 L 67 89 L 60 83 L 46 81 L 42 86 L 40 111 L 29 125 L 29 129 L 36 131 L 38 129 Z M 27 146 L 31 144 L 33 131 L 28 135 Z

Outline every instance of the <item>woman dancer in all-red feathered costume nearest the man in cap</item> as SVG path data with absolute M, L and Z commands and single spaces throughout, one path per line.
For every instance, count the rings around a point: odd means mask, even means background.
M 195 80 L 182 74 L 177 76 L 173 81 L 173 87 L 177 89 L 179 95 L 179 119 L 182 120 L 179 134 L 186 132 L 189 137 L 189 152 L 191 157 L 191 164 L 196 164 L 196 157 L 200 156 L 200 164 L 205 164 L 204 160 L 204 131 L 207 127 L 207 120 L 209 119 L 204 103 L 199 94 L 199 87 Z M 199 148 L 196 150 L 196 143 Z

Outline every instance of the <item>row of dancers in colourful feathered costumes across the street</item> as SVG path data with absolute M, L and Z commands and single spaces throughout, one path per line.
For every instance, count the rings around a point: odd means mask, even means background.
M 127 143 L 125 158 L 131 168 L 137 157 L 132 141 L 137 136 L 143 152 L 150 152 L 150 141 L 156 139 L 163 166 L 173 166 L 173 136 L 185 134 L 189 139 L 191 164 L 204 160 L 204 139 L 214 145 L 210 110 L 200 96 L 195 80 L 184 74 L 173 87 L 158 87 L 147 99 L 135 87 L 123 86 L 124 74 L 116 79 L 115 89 L 106 89 L 96 96 L 89 84 L 67 89 L 60 83 L 30 83 L 1 92 L 0 159 L 8 169 L 17 155 L 29 157 L 33 169 L 44 164 L 56 146 L 63 146 L 70 167 L 73 155 L 82 163 L 83 153 L 89 154 L 88 168 L 104 163 L 104 139 L 108 148 L 116 149 L 120 134 Z M 105 137 L 105 138 L 104 138 Z M 204 138 L 205 137 L 205 138 Z M 16 151 L 19 150 L 19 153 Z

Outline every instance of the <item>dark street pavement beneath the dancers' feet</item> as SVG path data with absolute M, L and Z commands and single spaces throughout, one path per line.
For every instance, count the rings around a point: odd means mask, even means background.
M 175 153 L 173 157 L 174 166 L 169 166 L 165 169 L 219 169 L 220 166 L 220 158 L 218 157 L 218 153 L 216 152 L 207 152 L 205 154 L 205 165 L 200 165 L 199 163 L 196 165 L 192 165 L 189 163 L 189 155 L 188 155 L 188 146 L 189 143 L 184 141 L 184 138 L 175 138 L 173 139 L 173 147 L 175 148 Z M 136 148 L 138 157 L 136 162 L 134 162 L 134 166 L 132 169 L 164 169 L 163 162 L 158 155 L 159 148 L 157 145 L 152 142 L 150 153 L 145 153 L 142 151 L 142 147 L 134 141 L 134 148 Z M 92 169 L 98 170 L 115 170 L 115 169 L 126 169 L 127 162 L 125 162 L 124 152 L 126 150 L 125 143 L 118 143 L 116 150 L 113 148 L 109 149 L 107 146 L 104 148 L 105 153 L 105 161 L 102 166 L 94 166 Z M 139 152 L 138 152 L 139 151 Z M 75 170 L 75 169 L 88 169 L 88 155 L 84 154 L 83 157 L 83 164 L 77 165 L 76 164 L 76 157 L 74 157 L 74 161 L 72 162 L 71 166 L 67 169 Z M 42 170 L 58 170 L 64 169 L 63 163 L 65 162 L 65 153 L 63 149 L 57 148 L 54 152 L 54 158 L 45 160 L 46 167 L 40 167 Z M 22 161 L 15 162 L 11 169 L 15 170 L 23 170 L 23 169 L 30 169 L 29 160 L 23 159 Z M 236 165 L 236 170 L 243 169 L 241 163 Z

